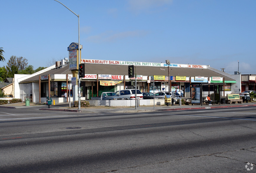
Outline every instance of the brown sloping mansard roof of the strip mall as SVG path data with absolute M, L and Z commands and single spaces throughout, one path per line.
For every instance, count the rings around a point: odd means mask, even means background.
M 136 74 L 143 76 L 168 76 L 168 67 L 152 67 L 152 66 L 135 66 Z M 169 67 L 170 76 L 204 76 L 204 77 L 224 77 L 225 81 L 235 81 L 231 79 L 229 74 L 225 76 L 221 73 L 218 73 L 218 70 L 215 71 L 211 69 L 195 69 L 195 68 L 173 68 Z M 217 72 L 216 72 L 217 71 Z M 72 74 L 69 70 L 69 66 L 65 66 L 61 69 L 51 69 L 41 73 L 41 76 L 48 74 Z M 112 75 L 128 75 L 128 66 L 125 65 L 110 65 L 110 64 L 85 64 L 85 74 L 112 74 Z M 39 81 L 39 74 L 28 79 L 21 81 L 20 83 L 30 83 Z

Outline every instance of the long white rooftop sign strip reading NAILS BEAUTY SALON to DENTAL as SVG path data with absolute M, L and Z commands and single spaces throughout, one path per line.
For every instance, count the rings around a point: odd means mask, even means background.
M 98 60 L 98 59 L 81 59 L 81 63 L 85 64 L 111 64 L 111 65 L 135 65 L 135 66 L 152 66 L 152 67 L 168 67 L 165 63 L 155 62 L 137 62 L 137 61 L 115 61 L 115 60 Z M 177 68 L 194 68 L 206 69 L 206 65 L 192 65 L 192 64 L 169 64 L 170 67 Z

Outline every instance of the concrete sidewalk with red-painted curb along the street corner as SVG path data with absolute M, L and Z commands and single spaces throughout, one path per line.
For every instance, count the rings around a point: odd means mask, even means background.
M 72 105 L 73 103 L 71 103 Z M 87 113 L 127 113 L 127 112 L 153 112 L 153 111 L 175 111 L 175 110 L 193 110 L 193 109 L 212 109 L 212 108 L 225 108 L 225 107 L 248 107 L 256 106 L 256 102 L 242 103 L 242 104 L 214 104 L 214 105 L 156 105 L 154 106 L 139 106 L 135 107 L 109 107 L 109 106 L 98 106 L 98 107 L 71 107 L 69 103 L 58 103 L 55 105 L 48 105 L 45 103 L 30 103 L 30 106 L 25 106 L 25 103 L 13 103 L 4 104 L 0 108 L 13 108 L 13 109 L 30 109 L 30 110 L 44 110 L 44 111 L 64 111 L 64 112 L 87 112 Z

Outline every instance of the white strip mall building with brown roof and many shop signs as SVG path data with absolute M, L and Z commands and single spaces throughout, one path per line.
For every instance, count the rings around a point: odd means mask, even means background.
M 128 78 L 128 65 L 134 65 L 136 69 L 137 89 L 141 92 L 168 92 L 169 76 L 170 91 L 177 89 L 180 92 L 182 89 L 184 97 L 190 97 L 191 87 L 198 85 L 202 86 L 204 97 L 212 93 L 223 97 L 241 90 L 240 74 L 230 75 L 209 65 L 171 63 L 168 66 L 165 63 L 95 59 L 81 59 L 81 63 L 85 64 L 85 76 L 81 78 L 81 99 L 97 97 L 102 92 L 134 89 L 135 78 Z M 50 96 L 56 102 L 63 102 L 63 94 L 65 91 L 69 93 L 67 83 L 71 83 L 71 77 L 73 74 L 69 70 L 68 60 L 58 61 L 55 66 L 35 74 L 15 74 L 15 98 L 24 101 L 29 97 L 32 102 L 45 102 L 46 97 Z

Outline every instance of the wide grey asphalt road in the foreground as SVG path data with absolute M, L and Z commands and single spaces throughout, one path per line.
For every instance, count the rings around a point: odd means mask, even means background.
M 79 127 L 79 129 L 67 129 Z M 256 172 L 256 108 L 0 110 L 0 172 Z

